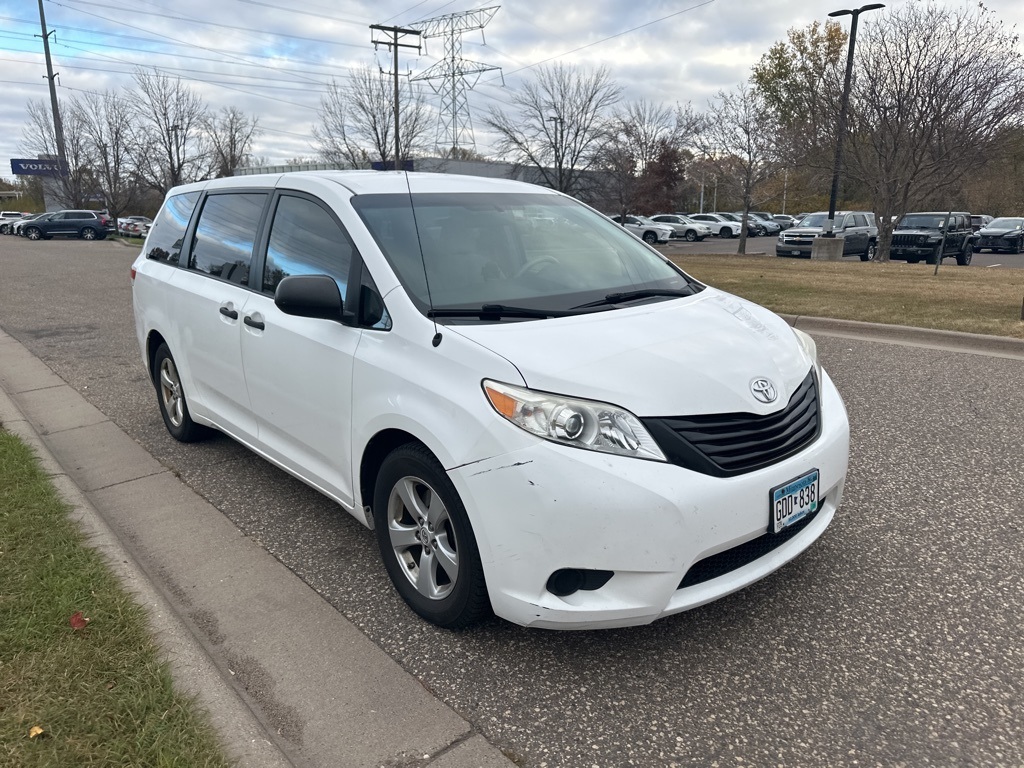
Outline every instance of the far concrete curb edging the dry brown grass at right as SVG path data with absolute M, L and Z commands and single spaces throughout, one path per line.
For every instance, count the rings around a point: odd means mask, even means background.
M 958 331 L 937 331 L 931 328 L 889 326 L 881 323 L 810 317 L 807 315 L 780 314 L 794 328 L 808 333 L 864 339 L 888 344 L 909 344 L 932 349 L 995 357 L 1024 358 L 1024 339 L 1009 336 L 986 336 Z

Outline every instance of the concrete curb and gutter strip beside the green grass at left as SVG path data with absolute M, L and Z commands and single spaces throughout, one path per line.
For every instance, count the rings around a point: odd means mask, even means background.
M 513 765 L 2 331 L 0 424 L 147 607 L 179 687 L 240 765 Z

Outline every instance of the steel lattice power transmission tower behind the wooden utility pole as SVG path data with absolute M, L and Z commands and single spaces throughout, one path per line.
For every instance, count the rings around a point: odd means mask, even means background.
M 500 67 L 470 61 L 462 57 L 462 33 L 480 30 L 492 19 L 500 5 L 488 8 L 467 10 L 462 13 L 449 13 L 443 16 L 428 18 L 417 25 L 424 38 L 444 38 L 444 58 L 433 67 L 420 73 L 413 80 L 439 81 L 430 83 L 430 87 L 441 97 L 440 121 L 437 130 L 437 147 L 446 145 L 449 151 L 460 146 L 475 147 L 473 126 L 469 117 L 469 102 L 466 91 L 476 85 L 479 75 Z M 468 78 L 476 76 L 472 85 L 467 86 Z

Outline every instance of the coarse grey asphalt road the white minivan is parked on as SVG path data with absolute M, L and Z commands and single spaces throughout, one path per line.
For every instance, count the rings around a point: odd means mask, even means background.
M 226 438 L 167 436 L 133 255 L 0 238 L 0 327 L 522 765 L 1024 763 L 1024 361 L 819 336 L 852 455 L 804 556 L 650 627 L 453 634 L 331 503 Z

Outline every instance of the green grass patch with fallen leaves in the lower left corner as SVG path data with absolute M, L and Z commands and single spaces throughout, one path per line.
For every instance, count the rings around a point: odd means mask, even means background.
M 79 630 L 77 611 L 90 620 Z M 205 714 L 175 692 L 145 611 L 2 429 L 0 765 L 230 765 Z

